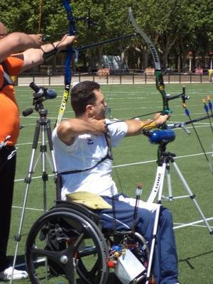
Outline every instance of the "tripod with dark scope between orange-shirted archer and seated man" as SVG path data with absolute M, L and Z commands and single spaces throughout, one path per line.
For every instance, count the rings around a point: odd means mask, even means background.
M 46 203 L 47 203 L 47 198 L 46 198 L 46 182 L 48 181 L 48 173 L 46 172 L 46 158 L 48 158 L 48 162 L 50 164 L 50 167 L 53 171 L 53 174 L 55 175 L 55 182 L 58 180 L 58 175 L 57 175 L 57 170 L 56 170 L 56 163 L 55 163 L 55 156 L 53 153 L 53 142 L 52 142 L 52 131 L 50 127 L 50 120 L 47 118 L 48 110 L 44 109 L 43 107 L 43 101 L 48 98 L 48 89 L 43 89 L 40 87 L 37 87 L 34 83 L 30 84 L 30 87 L 34 89 L 35 93 L 33 94 L 34 99 L 33 99 L 33 104 L 35 105 L 35 110 L 38 111 L 38 114 L 40 115 L 40 118 L 36 121 L 36 126 L 35 126 L 35 132 L 34 132 L 34 137 L 33 137 L 33 145 L 32 145 L 32 153 L 31 153 L 31 158 L 30 158 L 30 163 L 29 163 L 29 168 L 28 168 L 28 175 L 25 178 L 26 182 L 26 190 L 25 190 L 25 195 L 23 199 L 23 209 L 21 213 L 21 220 L 20 224 L 18 227 L 18 234 L 16 235 L 16 250 L 13 258 L 13 269 L 12 269 L 12 274 L 11 274 L 11 280 L 10 283 L 13 281 L 13 271 L 16 265 L 16 257 L 18 253 L 18 245 L 21 241 L 21 231 L 23 227 L 23 218 L 26 210 L 26 202 L 28 198 L 28 190 L 31 184 L 32 180 L 32 175 L 35 171 L 36 165 L 38 164 L 38 160 L 41 158 L 41 164 L 42 164 L 42 180 L 43 180 L 43 211 L 46 212 Z M 51 93 L 51 96 L 52 93 Z M 56 95 L 55 95 L 56 97 Z M 26 109 L 26 111 L 23 111 L 23 116 L 28 116 L 29 114 L 33 113 L 33 109 Z M 38 138 L 40 136 L 41 132 L 41 145 L 40 145 L 40 155 L 38 156 L 38 159 L 35 161 L 35 151 L 38 147 Z M 52 157 L 52 161 L 50 157 L 48 156 L 47 153 L 47 146 L 45 144 L 45 138 L 46 134 L 48 137 L 48 145 L 50 148 L 50 153 Z

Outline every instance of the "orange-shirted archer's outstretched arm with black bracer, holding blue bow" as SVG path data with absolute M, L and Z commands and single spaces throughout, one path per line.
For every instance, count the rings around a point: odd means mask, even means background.
M 28 49 L 23 52 L 23 67 L 21 72 L 28 70 L 34 66 L 40 65 L 43 63 L 44 58 L 43 54 L 48 53 L 49 51 L 57 48 L 58 52 L 67 47 L 67 45 L 71 45 L 75 40 L 75 36 L 65 35 L 60 41 L 55 41 L 55 43 L 48 43 L 45 45 L 41 45 L 40 49 Z

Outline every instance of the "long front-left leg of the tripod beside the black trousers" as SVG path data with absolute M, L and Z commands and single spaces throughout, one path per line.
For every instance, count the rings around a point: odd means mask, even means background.
M 33 161 L 34 161 L 34 158 L 35 158 L 35 150 L 38 146 L 39 133 L 40 133 L 40 124 L 39 124 L 39 121 L 37 121 L 36 126 L 35 126 L 34 138 L 33 138 L 33 146 L 32 146 L 30 165 L 29 165 L 29 169 L 28 169 L 28 176 L 27 176 L 27 178 L 25 178 L 26 190 L 25 190 L 25 195 L 24 195 L 24 200 L 23 200 L 23 208 L 22 208 L 22 212 L 21 212 L 21 220 L 20 220 L 20 223 L 19 223 L 18 234 L 16 235 L 16 250 L 15 250 L 14 258 L 13 258 L 13 268 L 12 268 L 12 273 L 11 273 L 10 284 L 13 282 L 13 271 L 14 271 L 14 268 L 15 268 L 15 265 L 16 265 L 18 245 L 19 245 L 19 242 L 21 241 L 23 217 L 24 217 L 24 214 L 25 214 L 26 202 L 27 202 L 27 198 L 28 198 L 28 190 L 29 190 L 29 186 L 30 186 L 32 174 L 33 174 Z

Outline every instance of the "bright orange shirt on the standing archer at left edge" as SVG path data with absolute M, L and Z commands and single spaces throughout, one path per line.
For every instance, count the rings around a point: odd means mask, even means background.
M 23 65 L 23 60 L 13 57 L 6 58 L 4 62 L 11 76 L 18 75 Z M 0 89 L 4 82 L 3 70 L 0 65 Z M 11 138 L 7 145 L 15 145 L 19 134 L 19 123 L 19 111 L 14 86 L 5 86 L 0 90 L 0 142 L 10 135 Z

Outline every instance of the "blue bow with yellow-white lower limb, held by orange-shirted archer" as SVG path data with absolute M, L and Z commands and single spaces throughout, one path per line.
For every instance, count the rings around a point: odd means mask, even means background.
M 69 35 L 75 35 L 75 18 L 72 13 L 72 7 L 70 5 L 69 0 L 62 0 L 62 4 L 65 7 L 65 10 L 67 12 L 67 20 L 69 22 Z M 70 85 L 72 80 L 72 56 L 75 53 L 75 50 L 72 47 L 67 48 L 67 57 L 65 59 L 65 90 L 62 96 L 62 102 L 60 104 L 60 109 L 58 112 L 58 119 L 55 122 L 55 126 L 58 126 L 60 122 L 62 121 L 62 116 L 65 112 L 67 99 L 70 94 Z

